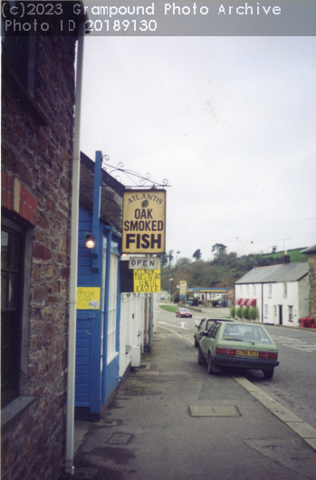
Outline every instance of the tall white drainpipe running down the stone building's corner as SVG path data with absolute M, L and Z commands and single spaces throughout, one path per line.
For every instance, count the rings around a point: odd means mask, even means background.
M 69 336 L 68 336 L 68 391 L 67 391 L 67 431 L 66 464 L 67 474 L 74 475 L 73 437 L 74 437 L 74 376 L 76 361 L 76 318 L 77 318 L 77 272 L 78 272 L 78 226 L 79 226 L 79 185 L 80 185 L 80 120 L 81 120 L 81 82 L 83 61 L 84 19 L 79 25 L 76 100 L 74 119 L 74 139 L 72 158 L 72 247 L 71 279 L 69 302 Z

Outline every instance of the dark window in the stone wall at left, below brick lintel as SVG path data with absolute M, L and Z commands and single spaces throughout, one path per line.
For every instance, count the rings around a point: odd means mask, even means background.
M 1 403 L 19 396 L 24 231 L 13 222 L 1 227 Z

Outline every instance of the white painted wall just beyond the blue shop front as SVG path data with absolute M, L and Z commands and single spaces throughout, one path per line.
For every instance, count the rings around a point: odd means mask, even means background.
M 130 349 L 142 344 L 144 331 L 144 293 L 121 293 L 120 303 L 120 370 L 122 377 L 130 363 Z

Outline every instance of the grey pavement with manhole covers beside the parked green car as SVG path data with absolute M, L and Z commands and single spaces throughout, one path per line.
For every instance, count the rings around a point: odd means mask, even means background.
M 314 428 L 162 327 L 101 421 L 75 422 L 75 450 L 59 480 L 316 480 Z

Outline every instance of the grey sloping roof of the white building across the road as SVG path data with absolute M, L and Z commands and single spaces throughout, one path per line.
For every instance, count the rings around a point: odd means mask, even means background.
M 308 262 L 254 268 L 235 283 L 297 282 L 309 273 Z

